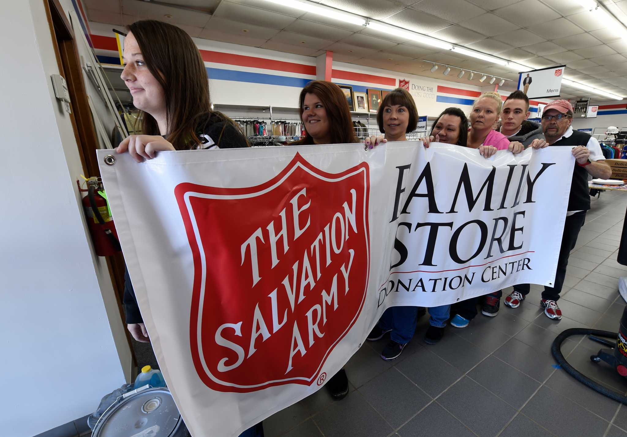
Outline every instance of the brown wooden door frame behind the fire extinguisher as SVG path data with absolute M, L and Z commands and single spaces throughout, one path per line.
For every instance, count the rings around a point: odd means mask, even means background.
M 56 63 L 58 64 L 61 76 L 65 78 L 70 93 L 71 114 L 70 120 L 78 145 L 78 155 L 83 166 L 83 174 L 88 177 L 100 177 L 98 168 L 98 136 L 93 125 L 92 111 L 89 106 L 87 88 L 83 81 L 83 71 L 78 58 L 78 48 L 74 33 L 61 7 L 59 0 L 43 0 L 46 9 L 46 17 L 50 26 L 52 45 L 55 49 Z M 124 297 L 124 270 L 125 263 L 122 252 L 116 255 L 105 257 L 107 268 L 111 277 L 113 290 L 117 301 L 120 318 L 126 328 L 126 321 L 123 309 Z M 130 339 L 130 333 L 124 329 L 134 366 L 137 366 L 135 351 Z

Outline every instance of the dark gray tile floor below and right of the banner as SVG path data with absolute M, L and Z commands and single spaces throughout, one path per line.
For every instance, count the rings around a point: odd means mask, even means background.
M 424 343 L 428 316 L 399 359 L 379 357 L 386 339 L 366 342 L 346 364 L 350 393 L 332 401 L 322 389 L 264 421 L 267 437 L 335 436 L 586 436 L 627 437 L 627 407 L 598 394 L 562 369 L 551 344 L 570 327 L 618 331 L 625 302 L 616 262 L 627 207 L 625 193 L 593 198 L 569 262 L 553 321 L 533 285 L 517 309 L 501 304 L 464 329 L 446 327 L 435 346 Z M 627 379 L 589 356 L 601 345 L 570 337 L 562 352 L 577 370 L 627 394 Z

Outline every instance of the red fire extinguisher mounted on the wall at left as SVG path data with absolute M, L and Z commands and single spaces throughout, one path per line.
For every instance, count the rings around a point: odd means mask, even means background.
M 76 181 L 78 183 L 78 181 Z M 120 250 L 120 242 L 113 224 L 113 217 L 107 205 L 107 200 L 102 197 L 100 192 L 104 192 L 102 182 L 98 178 L 89 178 L 87 180 L 87 190 L 80 187 L 78 190 L 87 192 L 87 196 L 83 197 L 83 210 L 85 211 L 85 219 L 89 233 L 92 235 L 93 248 L 96 255 L 106 257 L 114 255 Z

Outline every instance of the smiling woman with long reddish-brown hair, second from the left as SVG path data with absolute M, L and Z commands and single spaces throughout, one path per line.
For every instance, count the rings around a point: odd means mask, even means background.
M 349 104 L 341 88 L 332 82 L 315 80 L 300 91 L 298 111 L 307 135 L 290 145 L 358 143 L 350 117 Z M 383 136 L 372 136 L 362 141 L 372 148 L 387 140 Z M 342 399 L 349 393 L 346 371 L 338 373 L 325 384 L 334 399 Z

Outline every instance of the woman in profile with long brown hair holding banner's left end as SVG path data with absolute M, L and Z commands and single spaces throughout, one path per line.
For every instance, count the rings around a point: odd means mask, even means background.
M 124 39 L 120 77 L 141 111 L 144 135 L 130 135 L 117 147 L 137 162 L 162 150 L 248 147 L 228 116 L 211 110 L 209 81 L 194 41 L 182 29 L 161 21 L 137 21 Z M 124 274 L 127 327 L 135 340 L 149 342 L 128 270 Z M 240 437 L 263 437 L 261 423 Z

